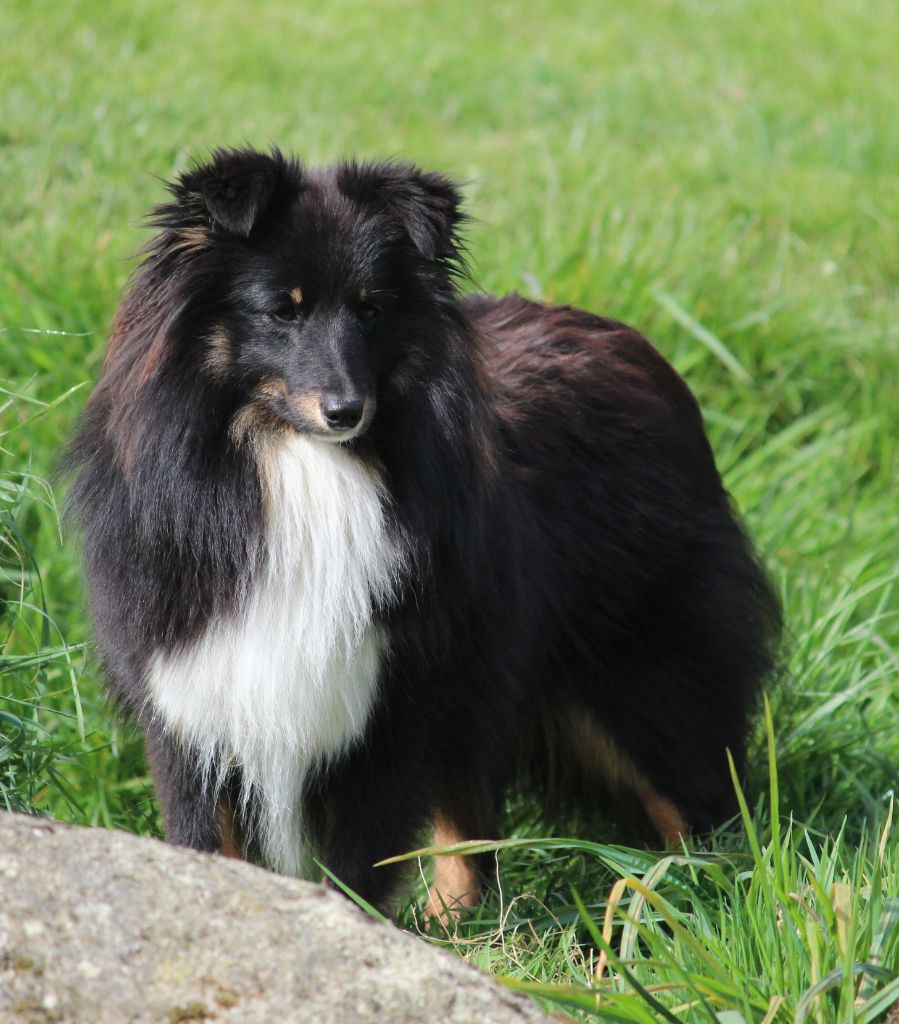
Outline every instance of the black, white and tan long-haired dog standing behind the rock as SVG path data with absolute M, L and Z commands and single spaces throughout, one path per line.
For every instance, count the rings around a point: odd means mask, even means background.
M 665 358 L 463 297 L 460 191 L 411 164 L 220 150 L 169 189 L 68 460 L 168 840 L 388 907 L 374 865 L 524 780 L 727 820 L 780 611 Z M 477 898 L 439 858 L 432 907 Z

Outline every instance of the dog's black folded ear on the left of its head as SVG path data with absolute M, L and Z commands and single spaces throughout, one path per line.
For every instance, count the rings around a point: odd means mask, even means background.
M 299 179 L 299 165 L 286 161 L 279 150 L 270 154 L 216 150 L 209 163 L 198 165 L 169 184 L 175 202 L 158 207 L 153 223 L 160 227 L 211 225 L 248 238 L 291 175 Z

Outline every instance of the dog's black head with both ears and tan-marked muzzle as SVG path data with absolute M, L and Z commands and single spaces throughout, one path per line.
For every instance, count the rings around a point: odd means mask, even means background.
M 454 185 L 408 165 L 311 173 L 240 151 L 172 190 L 157 222 L 194 261 L 195 343 L 203 372 L 244 396 L 233 429 L 363 433 L 410 340 L 455 297 Z

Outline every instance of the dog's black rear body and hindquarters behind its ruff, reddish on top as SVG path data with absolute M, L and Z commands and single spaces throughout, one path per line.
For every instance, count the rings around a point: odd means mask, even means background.
M 516 297 L 474 309 L 520 496 L 532 705 L 663 840 L 708 830 L 736 810 L 727 751 L 741 772 L 780 612 L 698 406 L 619 324 Z

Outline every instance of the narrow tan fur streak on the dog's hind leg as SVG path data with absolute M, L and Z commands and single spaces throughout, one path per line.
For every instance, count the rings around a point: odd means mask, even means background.
M 582 771 L 588 776 L 601 777 L 613 788 L 634 793 L 662 842 L 680 846 L 681 840 L 689 837 L 690 829 L 676 805 L 656 792 L 649 779 L 590 719 L 587 712 L 571 709 L 566 718 L 565 729 L 571 752 Z

